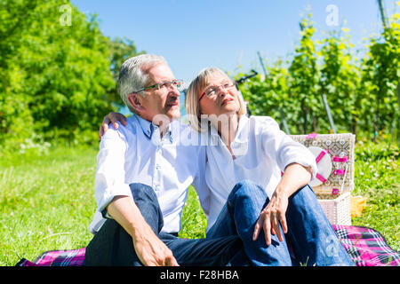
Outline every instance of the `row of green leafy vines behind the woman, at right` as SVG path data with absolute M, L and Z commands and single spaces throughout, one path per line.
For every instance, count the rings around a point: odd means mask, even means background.
M 327 98 L 339 132 L 376 138 L 399 136 L 400 14 L 395 14 L 368 52 L 357 59 L 348 28 L 314 39 L 311 14 L 300 22 L 300 43 L 291 59 L 267 66 L 267 78 L 241 86 L 252 114 L 269 115 L 288 124 L 292 134 L 329 133 L 322 95 Z M 239 74 L 241 75 L 241 74 Z

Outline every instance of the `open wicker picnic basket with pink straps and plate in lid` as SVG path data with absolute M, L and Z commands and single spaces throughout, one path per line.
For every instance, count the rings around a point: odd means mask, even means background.
M 318 173 L 310 185 L 328 220 L 332 225 L 351 225 L 350 192 L 354 189 L 356 136 L 312 133 L 290 137 L 316 156 Z

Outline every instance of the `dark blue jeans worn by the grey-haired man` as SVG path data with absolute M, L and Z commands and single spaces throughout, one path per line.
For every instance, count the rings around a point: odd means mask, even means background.
M 133 200 L 141 215 L 161 241 L 172 250 L 178 264 L 185 265 L 243 265 L 247 263 L 243 243 L 237 235 L 208 239 L 180 239 L 178 233 L 161 233 L 163 214 L 156 193 L 148 185 L 132 184 Z M 244 256 L 244 257 L 242 257 Z M 132 237 L 114 219 L 101 226 L 86 248 L 84 265 L 141 266 L 133 248 Z

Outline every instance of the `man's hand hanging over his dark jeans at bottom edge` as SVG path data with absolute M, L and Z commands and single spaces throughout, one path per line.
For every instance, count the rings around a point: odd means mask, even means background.
M 146 266 L 179 266 L 172 251 L 147 225 L 135 234 L 133 248 L 140 262 Z

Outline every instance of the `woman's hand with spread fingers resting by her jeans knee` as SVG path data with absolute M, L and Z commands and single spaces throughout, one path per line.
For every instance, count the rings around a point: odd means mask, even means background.
M 271 244 L 271 233 L 276 234 L 279 241 L 284 241 L 279 225 L 282 226 L 284 233 L 287 233 L 286 209 L 288 206 L 288 196 L 280 193 L 276 188 L 267 207 L 261 211 L 260 217 L 254 228 L 252 241 L 259 238 L 261 229 L 264 230 L 265 242 L 269 246 Z

